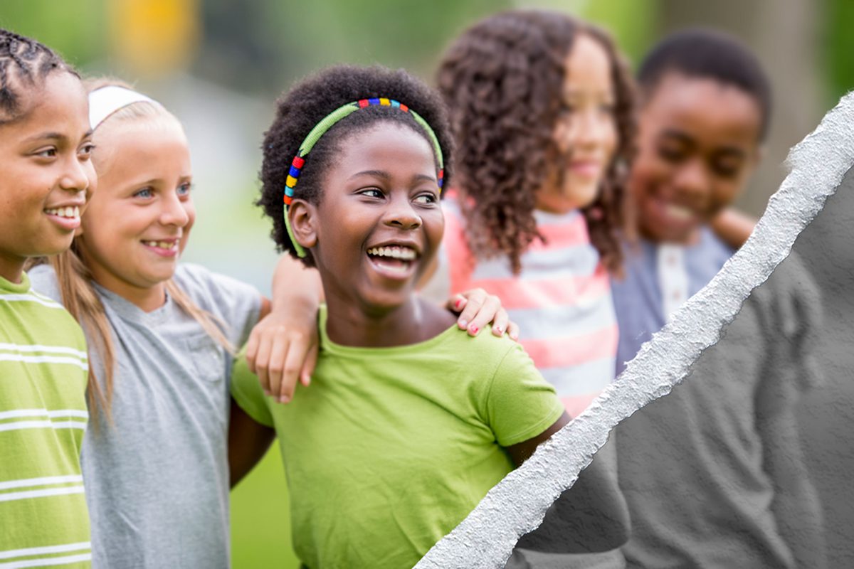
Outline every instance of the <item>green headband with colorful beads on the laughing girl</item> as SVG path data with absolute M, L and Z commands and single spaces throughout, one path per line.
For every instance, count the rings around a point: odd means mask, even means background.
M 297 151 L 294 160 L 290 163 L 290 171 L 288 172 L 288 177 L 285 180 L 285 188 L 284 188 L 284 227 L 288 229 L 288 236 L 290 237 L 290 242 L 294 244 L 294 248 L 296 250 L 296 254 L 300 257 L 306 256 L 306 251 L 301 247 L 299 243 L 296 242 L 294 237 L 293 229 L 290 229 L 290 221 L 288 220 L 288 209 L 290 207 L 291 200 L 294 199 L 294 187 L 296 185 L 297 180 L 300 177 L 300 171 L 302 170 L 302 165 L 306 163 L 306 156 L 309 152 L 311 152 L 314 145 L 320 139 L 320 136 L 323 136 L 326 131 L 329 131 L 332 128 L 332 125 L 335 125 L 339 120 L 344 117 L 349 116 L 350 113 L 354 113 L 358 111 L 360 108 L 371 107 L 371 106 L 381 106 L 381 107 L 395 107 L 401 109 L 404 113 L 409 113 L 412 115 L 412 119 L 415 119 L 415 122 L 424 129 L 428 136 L 430 136 L 430 142 L 433 143 L 433 150 L 436 152 L 436 160 L 439 162 L 439 175 L 438 175 L 438 184 L 439 184 L 439 192 L 442 192 L 442 177 L 445 173 L 445 165 L 442 160 L 442 148 L 439 146 L 439 139 L 436 138 L 436 133 L 433 132 L 433 129 L 430 128 L 430 125 L 427 124 L 427 121 L 422 119 L 421 116 L 413 111 L 411 108 L 407 107 L 401 102 L 397 102 L 394 99 L 387 98 L 376 98 L 376 99 L 360 99 L 355 102 L 348 102 L 346 105 L 342 105 L 341 107 L 336 108 L 331 113 L 327 114 L 320 122 L 314 126 L 311 132 L 308 133 L 306 139 L 302 141 L 300 145 L 300 149 Z

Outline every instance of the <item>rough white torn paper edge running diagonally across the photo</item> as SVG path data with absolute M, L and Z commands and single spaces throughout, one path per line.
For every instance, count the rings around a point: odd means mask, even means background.
M 416 569 L 503 567 L 518 538 L 593 460 L 617 423 L 683 380 L 720 339 L 751 291 L 787 257 L 798 234 L 821 212 L 854 165 L 854 93 L 844 96 L 789 153 L 789 174 L 772 195 L 751 238 L 721 272 L 644 344 L 623 374 L 522 467 L 496 485 Z

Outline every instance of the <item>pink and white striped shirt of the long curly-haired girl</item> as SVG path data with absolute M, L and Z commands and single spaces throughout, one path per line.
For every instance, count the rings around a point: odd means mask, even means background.
M 521 330 L 519 341 L 570 416 L 579 415 L 614 378 L 617 318 L 611 285 L 581 212 L 535 212 L 546 242 L 535 240 L 513 275 L 505 256 L 478 259 L 464 234 L 459 204 L 443 201 L 445 237 L 436 273 L 422 293 L 447 299 L 473 287 L 495 294 Z

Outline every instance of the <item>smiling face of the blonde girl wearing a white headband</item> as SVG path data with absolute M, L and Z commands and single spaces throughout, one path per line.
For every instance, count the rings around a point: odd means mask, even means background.
M 101 185 L 83 216 L 80 249 L 95 281 L 134 304 L 163 301 L 196 210 L 190 150 L 171 119 L 132 119 L 97 133 Z M 154 305 L 149 305 L 153 302 Z

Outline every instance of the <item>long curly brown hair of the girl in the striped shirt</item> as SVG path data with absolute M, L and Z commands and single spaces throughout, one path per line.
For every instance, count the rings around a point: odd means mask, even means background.
M 506 255 L 517 274 L 531 241 L 543 240 L 534 217 L 536 192 L 564 168 L 553 131 L 564 62 L 581 34 L 598 42 L 611 61 L 619 140 L 596 199 L 582 213 L 602 263 L 618 276 L 620 235 L 633 235 L 625 178 L 634 154 L 635 88 L 611 38 L 559 12 L 504 12 L 464 32 L 439 67 L 439 91 L 458 143 L 456 189 L 466 240 L 475 258 Z

